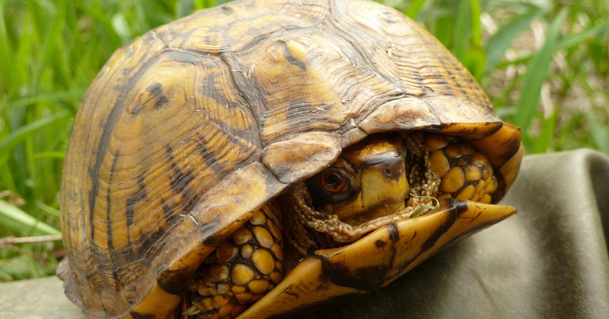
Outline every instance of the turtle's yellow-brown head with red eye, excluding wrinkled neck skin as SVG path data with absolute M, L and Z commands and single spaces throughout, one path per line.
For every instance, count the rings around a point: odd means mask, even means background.
M 309 179 L 314 205 L 348 224 L 404 210 L 409 193 L 406 154 L 403 138 L 395 134 L 372 135 L 350 146 Z

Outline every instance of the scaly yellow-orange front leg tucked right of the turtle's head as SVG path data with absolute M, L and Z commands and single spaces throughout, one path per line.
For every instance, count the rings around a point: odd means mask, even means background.
M 458 137 L 427 134 L 431 168 L 440 176 L 438 199 L 469 199 L 491 203 L 498 184 L 487 158 Z

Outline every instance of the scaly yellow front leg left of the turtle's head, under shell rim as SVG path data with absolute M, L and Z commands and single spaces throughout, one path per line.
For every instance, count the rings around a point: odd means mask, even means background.
M 267 203 L 209 254 L 188 288 L 191 306 L 183 315 L 236 317 L 283 280 L 279 216 Z

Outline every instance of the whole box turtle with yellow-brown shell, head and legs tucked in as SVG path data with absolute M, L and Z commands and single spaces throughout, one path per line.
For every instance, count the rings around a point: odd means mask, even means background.
M 118 49 L 61 193 L 88 317 L 269 317 L 389 284 L 515 210 L 523 155 L 470 73 L 368 1 L 236 1 Z

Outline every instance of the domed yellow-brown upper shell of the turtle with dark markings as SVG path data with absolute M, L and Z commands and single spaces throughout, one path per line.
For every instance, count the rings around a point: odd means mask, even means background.
M 236 1 L 118 49 L 88 89 L 63 171 L 58 268 L 90 317 L 167 315 L 248 213 L 375 132 L 458 135 L 496 168 L 523 154 L 470 73 L 367 1 Z

